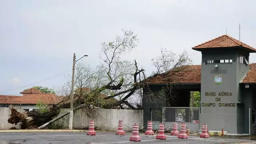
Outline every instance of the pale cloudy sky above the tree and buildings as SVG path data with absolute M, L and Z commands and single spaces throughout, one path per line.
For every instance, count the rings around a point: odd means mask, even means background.
M 200 64 L 201 53 L 191 47 L 226 34 L 226 28 L 238 39 L 239 23 L 241 41 L 256 48 L 255 5 L 254 0 L 0 0 L 0 94 L 62 86 L 63 74 L 51 77 L 72 69 L 73 53 L 88 54 L 83 62 L 95 66 L 101 43 L 122 29 L 138 34 L 139 45 L 127 57 L 148 74 L 160 48 L 177 54 L 186 49 Z

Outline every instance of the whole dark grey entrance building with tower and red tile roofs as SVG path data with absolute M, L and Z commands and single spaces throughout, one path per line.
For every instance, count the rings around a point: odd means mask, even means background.
M 148 90 L 143 90 L 145 129 L 147 121 L 155 122 L 155 127 L 186 123 L 194 131 L 205 123 L 210 132 L 224 128 L 227 134 L 256 135 L 256 63 L 249 64 L 250 53 L 256 49 L 228 35 L 192 49 L 202 53 L 201 65 L 182 66 L 148 79 L 150 91 L 166 87 L 170 91 L 150 103 L 145 98 Z M 200 107 L 190 107 L 190 91 L 200 91 Z

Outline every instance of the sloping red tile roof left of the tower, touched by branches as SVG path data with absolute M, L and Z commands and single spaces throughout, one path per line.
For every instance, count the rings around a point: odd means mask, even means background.
M 148 84 L 200 84 L 201 65 L 181 66 L 167 74 L 158 74 L 147 80 Z

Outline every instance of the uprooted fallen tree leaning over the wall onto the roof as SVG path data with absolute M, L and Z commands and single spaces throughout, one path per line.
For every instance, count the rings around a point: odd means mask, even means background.
M 132 31 L 123 32 L 124 35 L 122 37 L 118 36 L 115 41 L 102 44 L 103 56 L 101 55 L 100 58 L 103 60 L 103 64 L 100 64 L 95 69 L 82 63 L 76 66 L 74 84 L 77 89 L 74 95 L 74 111 L 81 108 L 92 109 L 98 103 L 103 108 L 109 104 L 120 106 L 125 104 L 131 109 L 138 109 L 138 107 L 141 109 L 141 105 L 131 105 L 128 100 L 134 95 L 137 98 L 135 101 L 142 101 L 142 89 L 148 88 L 145 70 L 138 67 L 136 60 L 130 62 L 121 59 L 122 55 L 137 46 L 138 39 L 137 35 L 134 35 Z M 153 60 L 153 65 L 157 68 L 152 75 L 153 77 L 190 62 L 186 53 L 175 59 L 173 53 L 166 52 L 161 50 L 162 55 Z M 11 107 L 8 123 L 15 125 L 20 123 L 21 129 L 45 128 L 47 125 L 69 114 L 68 111 L 58 116 L 60 109 L 70 107 L 70 89 L 70 81 L 68 81 L 62 90 L 65 92 L 62 95 L 66 96 L 61 97 L 57 104 L 47 105 L 47 111 L 44 112 L 29 111 L 19 113 L 14 107 Z M 148 91 L 150 91 L 149 88 Z M 150 102 L 154 103 L 155 94 L 150 91 L 148 95 Z

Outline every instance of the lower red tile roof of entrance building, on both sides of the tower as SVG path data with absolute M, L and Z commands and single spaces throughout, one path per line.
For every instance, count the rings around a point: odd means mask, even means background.
M 250 70 L 242 83 L 256 83 L 256 63 L 249 66 Z M 147 84 L 201 84 L 201 65 L 182 66 L 167 74 L 158 74 L 148 78 Z

